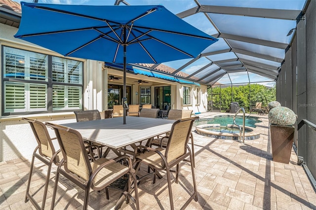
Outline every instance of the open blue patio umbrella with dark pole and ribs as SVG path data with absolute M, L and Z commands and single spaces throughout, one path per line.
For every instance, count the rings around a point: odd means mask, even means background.
M 217 39 L 162 5 L 66 5 L 21 2 L 14 37 L 64 56 L 123 64 L 195 58 Z M 124 108 L 123 124 L 126 124 Z

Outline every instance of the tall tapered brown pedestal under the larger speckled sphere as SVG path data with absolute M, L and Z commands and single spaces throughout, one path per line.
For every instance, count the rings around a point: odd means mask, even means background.
M 273 161 L 286 164 L 290 162 L 294 130 L 294 126 L 270 125 Z

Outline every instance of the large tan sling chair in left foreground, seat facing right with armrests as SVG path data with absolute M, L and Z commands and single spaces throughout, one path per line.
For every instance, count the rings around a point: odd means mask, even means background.
M 128 175 L 128 187 L 127 193 L 125 193 L 126 203 L 129 202 L 129 198 L 133 200 L 133 197 L 131 197 L 131 184 L 133 181 L 136 209 L 139 210 L 137 180 L 129 156 L 122 155 L 111 160 L 100 158 L 90 163 L 82 136 L 78 131 L 49 122 L 46 122 L 46 124 L 55 130 L 64 157 L 57 168 L 51 209 L 54 209 L 55 206 L 58 180 L 61 174 L 84 190 L 83 210 L 86 210 L 88 206 L 90 188 L 97 191 L 105 188 L 106 197 L 109 199 L 108 186 L 121 176 Z M 123 159 L 127 160 L 128 166 L 118 163 L 118 161 Z

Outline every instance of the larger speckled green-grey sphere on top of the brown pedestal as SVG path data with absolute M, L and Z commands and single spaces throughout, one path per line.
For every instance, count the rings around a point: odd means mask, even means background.
M 296 122 L 296 114 L 285 106 L 276 106 L 269 111 L 268 119 L 272 125 L 292 126 Z

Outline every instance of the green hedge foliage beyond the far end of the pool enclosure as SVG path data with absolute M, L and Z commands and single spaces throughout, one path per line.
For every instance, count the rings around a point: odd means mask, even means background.
M 249 106 L 256 104 L 256 102 L 262 102 L 262 105 L 266 106 L 269 102 L 275 100 L 276 87 L 268 88 L 260 84 L 233 86 L 233 88 L 220 88 L 217 86 L 208 89 L 208 101 L 212 102 L 216 107 L 219 107 L 221 104 L 222 110 L 229 108 L 231 102 L 238 102 L 239 106 L 249 111 Z

